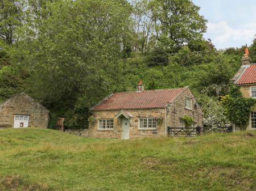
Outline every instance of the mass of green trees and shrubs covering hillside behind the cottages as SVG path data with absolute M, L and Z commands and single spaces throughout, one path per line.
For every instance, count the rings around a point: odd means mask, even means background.
M 86 128 L 92 105 L 110 92 L 135 90 L 141 79 L 147 89 L 189 86 L 216 101 L 241 66 L 243 48 L 217 53 L 202 38 L 206 20 L 188 0 L 0 6 L 0 102 L 26 91 L 51 111 L 50 128 L 60 115 L 66 127 Z

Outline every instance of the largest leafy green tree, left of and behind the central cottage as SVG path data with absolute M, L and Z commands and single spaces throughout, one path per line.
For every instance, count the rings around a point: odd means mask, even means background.
M 19 43 L 31 74 L 28 91 L 50 109 L 80 108 L 76 111 L 118 91 L 117 61 L 129 35 L 129 3 L 57 1 L 42 9 L 47 16 L 31 19 Z

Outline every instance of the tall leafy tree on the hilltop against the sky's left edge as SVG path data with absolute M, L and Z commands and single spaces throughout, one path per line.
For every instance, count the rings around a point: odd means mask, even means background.
M 150 9 L 155 24 L 154 36 L 170 52 L 201 40 L 206 32 L 207 20 L 199 14 L 200 7 L 190 0 L 152 0 Z

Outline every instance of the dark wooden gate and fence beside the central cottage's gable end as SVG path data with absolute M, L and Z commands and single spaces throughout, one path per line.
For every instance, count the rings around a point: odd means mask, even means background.
M 197 126 L 195 128 L 175 128 L 170 126 L 167 127 L 168 136 L 174 137 L 195 137 L 210 132 L 230 133 L 232 132 L 232 126 L 225 126 L 219 128 L 202 128 L 200 126 Z

